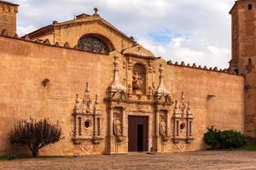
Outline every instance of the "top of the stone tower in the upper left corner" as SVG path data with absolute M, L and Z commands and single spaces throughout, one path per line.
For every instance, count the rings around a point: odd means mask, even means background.
M 0 33 L 5 30 L 9 36 L 15 36 L 18 6 L 15 3 L 0 0 Z

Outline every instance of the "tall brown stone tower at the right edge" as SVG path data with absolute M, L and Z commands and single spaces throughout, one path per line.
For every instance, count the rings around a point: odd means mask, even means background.
M 256 0 L 238 0 L 232 16 L 230 71 L 245 75 L 245 135 L 256 142 Z M 251 139 L 251 140 L 250 140 Z

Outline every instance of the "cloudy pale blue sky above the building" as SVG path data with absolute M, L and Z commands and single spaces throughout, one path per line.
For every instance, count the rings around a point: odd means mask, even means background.
M 113 26 L 166 60 L 228 67 L 230 8 L 235 0 L 9 0 L 20 4 L 18 33 L 53 20 L 99 14 Z

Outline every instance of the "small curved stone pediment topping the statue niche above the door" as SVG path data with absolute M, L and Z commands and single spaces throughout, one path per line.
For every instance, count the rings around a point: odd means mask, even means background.
M 143 46 L 140 44 L 136 44 L 131 48 L 126 48 L 123 51 L 123 54 L 136 57 L 155 58 L 153 53 L 151 53 L 148 49 L 143 48 Z

